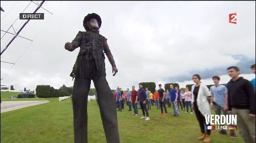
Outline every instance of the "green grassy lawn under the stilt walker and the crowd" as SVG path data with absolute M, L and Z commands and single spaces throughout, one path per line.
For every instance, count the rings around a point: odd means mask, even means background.
M 7 100 L 11 99 L 2 99 Z M 17 100 L 24 99 L 11 101 Z M 2 143 L 74 143 L 70 99 L 61 102 L 58 98 L 43 100 L 50 102 L 0 114 Z M 159 115 L 160 109 L 154 106 L 149 111 L 150 120 L 144 121 L 140 119 L 141 109 L 139 116 L 131 115 L 132 112 L 127 110 L 125 107 L 123 112 L 117 112 L 121 143 L 203 143 L 196 140 L 200 129 L 194 114 L 181 111 L 180 118 L 176 118 L 171 116 L 173 110 L 168 108 L 169 114 L 164 116 Z M 229 137 L 229 131 L 228 135 L 218 135 L 217 131 L 212 130 L 214 143 L 243 143 L 238 131 L 235 139 Z M 88 142 L 106 143 L 96 100 L 88 102 Z

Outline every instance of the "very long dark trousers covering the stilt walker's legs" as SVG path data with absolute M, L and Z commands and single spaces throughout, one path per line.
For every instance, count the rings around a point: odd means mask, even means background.
M 98 77 L 93 80 L 93 83 L 98 94 L 98 104 L 107 143 L 120 143 L 115 101 L 106 77 Z M 72 96 L 75 143 L 87 143 L 87 98 L 90 85 L 91 80 L 75 78 Z

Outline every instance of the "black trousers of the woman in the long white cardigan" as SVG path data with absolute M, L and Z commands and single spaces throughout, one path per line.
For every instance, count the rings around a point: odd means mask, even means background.
M 193 103 L 194 105 L 194 113 L 195 113 L 195 116 L 196 116 L 196 119 L 200 125 L 200 129 L 201 129 L 201 132 L 202 133 L 205 133 L 205 129 L 204 129 L 204 125 L 206 125 L 205 123 L 205 117 L 204 115 L 202 115 L 202 113 L 198 110 L 198 107 L 197 107 L 197 104 L 194 102 Z M 210 129 L 207 129 L 206 130 L 206 133 L 207 135 L 211 135 L 211 130 Z

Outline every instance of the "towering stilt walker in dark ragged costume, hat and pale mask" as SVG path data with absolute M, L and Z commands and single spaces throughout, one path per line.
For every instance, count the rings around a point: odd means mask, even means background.
M 111 64 L 112 72 L 115 72 L 113 76 L 118 70 L 107 45 L 107 38 L 99 34 L 101 23 L 99 15 L 88 14 L 83 21 L 85 32 L 79 31 L 74 40 L 66 42 L 64 46 L 65 50 L 70 52 L 80 47 L 70 73 L 70 76 L 75 78 L 72 96 L 75 143 L 87 143 L 87 98 L 91 80 L 98 93 L 98 104 L 107 143 L 120 142 L 115 101 L 106 80 L 105 54 Z

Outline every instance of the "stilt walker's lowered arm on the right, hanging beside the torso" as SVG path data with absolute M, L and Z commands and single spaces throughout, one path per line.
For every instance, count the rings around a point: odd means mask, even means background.
M 112 72 L 115 72 L 113 74 L 113 76 L 116 74 L 116 72 L 118 72 L 118 70 L 116 69 L 116 64 L 115 64 L 115 60 L 113 55 L 111 54 L 111 51 L 107 45 L 107 38 L 104 39 L 104 43 L 103 43 L 103 50 L 105 52 L 105 54 L 107 55 L 107 59 L 110 62 L 111 66 L 112 66 Z

